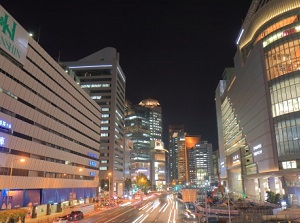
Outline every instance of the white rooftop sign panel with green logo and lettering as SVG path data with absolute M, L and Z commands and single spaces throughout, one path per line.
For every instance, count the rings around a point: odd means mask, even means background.
M 24 64 L 27 54 L 28 33 L 0 5 L 0 48 Z

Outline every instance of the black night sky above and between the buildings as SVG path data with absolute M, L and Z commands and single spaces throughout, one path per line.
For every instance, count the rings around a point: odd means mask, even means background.
M 105 47 L 120 53 L 126 97 L 153 98 L 170 124 L 217 144 L 215 89 L 233 66 L 235 40 L 251 0 L 1 0 L 61 61 Z M 39 31 L 40 30 L 40 31 Z

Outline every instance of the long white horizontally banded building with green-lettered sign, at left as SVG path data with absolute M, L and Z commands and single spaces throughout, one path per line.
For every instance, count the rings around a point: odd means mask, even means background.
M 39 216 L 92 202 L 100 107 L 2 6 L 0 16 L 0 207 Z

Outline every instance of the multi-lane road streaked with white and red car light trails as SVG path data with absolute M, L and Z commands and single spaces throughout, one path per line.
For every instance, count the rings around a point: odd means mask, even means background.
M 78 223 L 184 223 L 198 222 L 187 219 L 183 214 L 185 206 L 172 194 L 161 194 L 147 200 L 132 201 L 124 206 L 114 207 L 89 214 Z

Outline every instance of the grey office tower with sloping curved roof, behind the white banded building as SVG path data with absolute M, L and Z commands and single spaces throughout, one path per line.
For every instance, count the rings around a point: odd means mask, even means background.
M 100 180 L 111 178 L 110 192 L 123 194 L 125 75 L 119 53 L 107 47 L 81 60 L 63 62 L 80 87 L 101 107 Z

